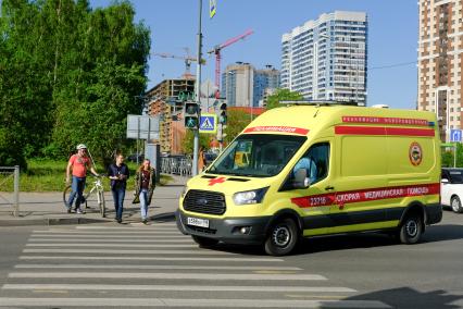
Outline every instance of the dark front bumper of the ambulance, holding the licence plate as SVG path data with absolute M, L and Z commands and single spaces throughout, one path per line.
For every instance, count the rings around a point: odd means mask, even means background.
M 175 218 L 178 230 L 185 235 L 202 236 L 240 245 L 262 244 L 271 220 L 271 217 L 210 219 L 186 214 L 182 210 L 176 211 Z

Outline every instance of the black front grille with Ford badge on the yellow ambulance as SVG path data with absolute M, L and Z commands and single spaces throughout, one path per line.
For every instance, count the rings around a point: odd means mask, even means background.
M 199 213 L 223 214 L 226 210 L 225 196 L 214 191 L 189 190 L 184 199 L 184 209 Z

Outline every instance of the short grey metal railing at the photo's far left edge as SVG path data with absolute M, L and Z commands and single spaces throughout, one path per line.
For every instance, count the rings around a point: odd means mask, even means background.
M 12 195 L 12 197 L 11 197 Z M 10 197 L 10 198 L 9 198 Z M 20 166 L 0 166 L 0 201 L 11 205 L 13 215 L 20 214 Z M 0 202 L 2 205 L 2 202 Z

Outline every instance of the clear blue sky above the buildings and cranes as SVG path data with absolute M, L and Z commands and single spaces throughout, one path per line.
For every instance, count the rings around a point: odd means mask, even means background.
M 132 0 L 137 21 L 151 29 L 151 52 L 185 55 L 197 51 L 199 0 Z M 209 0 L 203 0 L 203 52 L 240 35 L 248 28 L 254 34 L 222 51 L 222 72 L 236 61 L 256 69 L 265 64 L 280 67 L 280 41 L 284 33 L 336 10 L 362 11 L 368 16 L 367 103 L 415 109 L 417 97 L 416 0 L 216 0 L 217 12 L 209 18 Z M 90 0 L 90 5 L 107 7 L 111 0 Z M 202 81 L 214 79 L 215 60 L 204 55 Z M 405 65 L 400 65 L 408 63 Z M 151 57 L 151 88 L 164 78 L 185 72 L 182 60 Z M 385 67 L 396 65 L 392 67 Z M 383 67 L 383 69 L 380 69 Z M 191 72 L 196 73 L 196 65 Z

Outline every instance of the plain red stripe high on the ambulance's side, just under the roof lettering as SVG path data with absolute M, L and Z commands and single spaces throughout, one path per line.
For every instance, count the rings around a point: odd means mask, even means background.
M 346 135 L 395 135 L 395 136 L 434 136 L 433 128 L 404 128 L 380 126 L 335 126 L 335 134 Z

